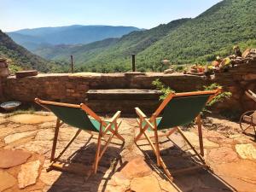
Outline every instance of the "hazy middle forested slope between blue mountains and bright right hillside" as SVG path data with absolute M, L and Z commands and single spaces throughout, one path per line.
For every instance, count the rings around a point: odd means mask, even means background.
M 131 32 L 122 38 L 105 39 L 91 44 L 73 46 L 55 46 L 38 49 L 34 53 L 47 59 L 65 61 L 74 55 L 78 70 L 94 72 L 123 72 L 129 70 L 131 54 L 137 54 L 161 38 L 168 32 L 181 26 L 190 19 L 173 20 L 150 30 Z M 97 65 L 96 62 L 101 63 Z M 120 63 L 125 62 L 125 65 Z

